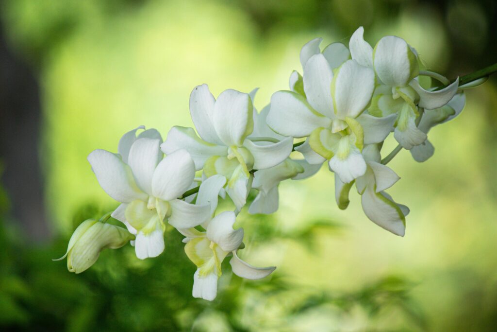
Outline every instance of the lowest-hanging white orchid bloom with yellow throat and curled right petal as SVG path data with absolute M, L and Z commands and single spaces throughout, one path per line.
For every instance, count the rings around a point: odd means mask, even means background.
M 205 232 L 195 228 L 178 229 L 186 236 L 186 255 L 197 266 L 193 275 L 193 297 L 208 301 L 216 298 L 221 263 L 230 252 L 233 253 L 230 261 L 233 272 L 242 278 L 261 279 L 275 270 L 276 267 L 253 267 L 238 257 L 237 249 L 242 244 L 244 230 L 233 229 L 235 221 L 235 213 L 225 211 L 206 225 Z

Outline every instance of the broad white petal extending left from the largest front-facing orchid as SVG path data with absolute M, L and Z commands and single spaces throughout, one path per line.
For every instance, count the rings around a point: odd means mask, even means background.
M 329 127 L 331 119 L 314 111 L 306 99 L 291 91 L 278 91 L 271 97 L 267 124 L 284 136 L 305 137 L 319 127 Z

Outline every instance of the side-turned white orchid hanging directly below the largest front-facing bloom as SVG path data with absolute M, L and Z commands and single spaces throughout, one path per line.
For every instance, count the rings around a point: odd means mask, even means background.
M 400 236 L 406 232 L 406 216 L 409 208 L 396 203 L 385 190 L 392 187 L 400 178 L 389 167 L 381 164 L 377 144 L 367 145 L 362 154 L 366 160 L 366 173 L 357 178 L 355 186 L 361 195 L 362 210 L 380 227 Z M 335 176 L 335 199 L 340 209 L 349 203 L 348 192 L 352 184 L 344 184 Z

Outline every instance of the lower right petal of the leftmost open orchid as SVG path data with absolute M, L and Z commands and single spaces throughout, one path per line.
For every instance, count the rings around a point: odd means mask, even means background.
M 196 205 L 181 200 L 169 201 L 171 217 L 169 224 L 175 228 L 191 228 L 208 221 L 211 217 L 209 204 Z

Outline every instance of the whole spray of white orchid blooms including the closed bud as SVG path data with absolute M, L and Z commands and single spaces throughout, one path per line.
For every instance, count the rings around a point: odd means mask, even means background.
M 91 152 L 98 183 L 121 203 L 111 216 L 127 230 L 84 221 L 68 246 L 69 270 L 83 272 L 101 249 L 128 241 L 138 258 L 156 257 L 168 224 L 185 236 L 185 253 L 197 266 L 193 296 L 213 300 L 227 256 L 243 278 L 275 269 L 238 256 L 244 230 L 233 225 L 250 190 L 257 195 L 248 213 L 271 214 L 281 181 L 310 177 L 325 162 L 334 173 L 338 208 L 347 208 L 355 184 L 367 218 L 403 236 L 409 209 L 385 192 L 400 179 L 386 164 L 402 148 L 418 162 L 428 159 L 430 128 L 457 116 L 466 100 L 459 80 L 450 84 L 426 70 L 404 39 L 386 36 L 372 47 L 363 32 L 354 32 L 348 48 L 332 43 L 321 50 L 321 38 L 305 44 L 303 73 L 292 72 L 289 90 L 274 93 L 260 112 L 253 107 L 256 89 L 226 90 L 216 99 L 204 84 L 190 95 L 196 130 L 174 126 L 163 141 L 157 130 L 140 126 L 123 135 L 118 153 Z M 390 133 L 399 146 L 382 160 Z M 219 213 L 220 198 L 233 209 Z

